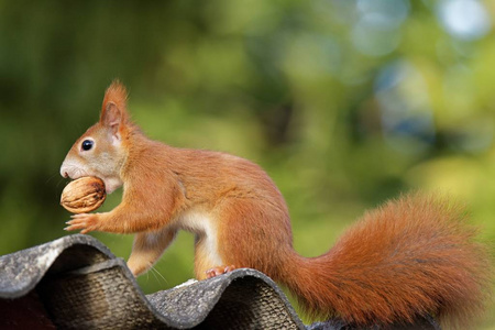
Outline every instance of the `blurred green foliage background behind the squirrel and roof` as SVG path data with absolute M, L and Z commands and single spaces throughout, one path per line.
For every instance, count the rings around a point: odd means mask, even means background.
M 304 255 L 415 189 L 465 202 L 493 242 L 495 35 L 453 35 L 442 3 L 0 1 L 0 254 L 67 234 L 58 168 L 114 78 L 152 138 L 261 164 Z M 131 235 L 94 235 L 129 255 Z M 193 277 L 193 255 L 182 233 L 143 290 Z

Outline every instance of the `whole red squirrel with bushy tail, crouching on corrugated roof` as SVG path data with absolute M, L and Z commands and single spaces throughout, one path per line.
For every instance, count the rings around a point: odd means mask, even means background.
M 460 324 L 482 310 L 491 263 L 462 208 L 406 195 L 366 212 L 326 254 L 304 257 L 293 249 L 285 200 L 258 165 L 150 140 L 131 121 L 127 98 L 112 82 L 99 122 L 73 145 L 61 174 L 97 176 L 108 194 L 123 186 L 113 210 L 75 215 L 66 230 L 135 233 L 128 261 L 135 276 L 186 230 L 196 234 L 199 279 L 255 268 L 315 317 L 364 327 L 432 315 Z

